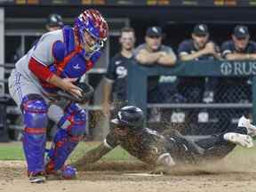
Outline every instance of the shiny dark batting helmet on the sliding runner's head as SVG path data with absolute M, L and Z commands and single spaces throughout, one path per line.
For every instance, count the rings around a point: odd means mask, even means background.
M 111 123 L 129 126 L 129 127 L 141 127 L 144 121 L 144 114 L 140 108 L 135 106 L 126 106 L 121 108 L 115 119 L 111 120 Z

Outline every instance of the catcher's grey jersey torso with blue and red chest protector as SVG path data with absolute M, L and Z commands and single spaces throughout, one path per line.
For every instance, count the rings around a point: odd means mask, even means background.
M 29 68 L 31 58 L 52 73 L 61 78 L 80 78 L 92 68 L 100 58 L 100 52 L 94 52 L 90 58 L 85 58 L 84 50 L 76 50 L 75 34 L 73 28 L 62 28 L 45 33 L 39 41 L 17 61 L 15 68 L 20 75 L 33 82 L 42 92 L 52 92 L 44 80 L 39 79 Z M 39 64 L 38 64 L 39 65 Z

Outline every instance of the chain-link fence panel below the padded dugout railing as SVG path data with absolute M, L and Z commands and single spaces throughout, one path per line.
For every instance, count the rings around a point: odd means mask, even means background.
M 248 77 L 164 78 L 165 82 L 160 77 L 157 85 L 148 87 L 151 128 L 177 129 L 189 135 L 214 134 L 236 126 L 244 114 L 252 114 L 252 83 Z

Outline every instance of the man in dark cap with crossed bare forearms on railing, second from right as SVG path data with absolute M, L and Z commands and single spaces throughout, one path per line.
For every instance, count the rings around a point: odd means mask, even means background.
M 191 39 L 180 43 L 178 53 L 180 60 L 183 61 L 220 59 L 220 48 L 210 40 L 210 33 L 205 24 L 197 24 L 193 28 Z M 216 84 L 217 79 L 211 77 L 180 77 L 177 88 L 187 102 L 209 103 L 213 102 Z M 186 122 L 195 134 L 200 129 L 198 123 L 206 119 L 202 119 L 202 116 L 209 116 L 209 112 L 198 108 L 188 109 Z

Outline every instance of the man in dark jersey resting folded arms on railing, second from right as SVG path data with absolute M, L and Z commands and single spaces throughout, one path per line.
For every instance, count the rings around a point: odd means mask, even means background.
M 208 27 L 204 24 L 197 24 L 192 32 L 192 38 L 183 41 L 179 45 L 178 53 L 180 60 L 219 60 L 220 49 L 210 39 Z M 204 81 L 205 80 L 205 81 Z M 213 101 L 213 87 L 216 80 L 204 77 L 181 77 L 179 90 L 188 102 L 201 102 L 204 93 L 204 102 Z M 193 88 L 191 87 L 193 86 Z M 204 90 L 205 87 L 205 90 Z M 191 90 L 193 89 L 193 90 Z

